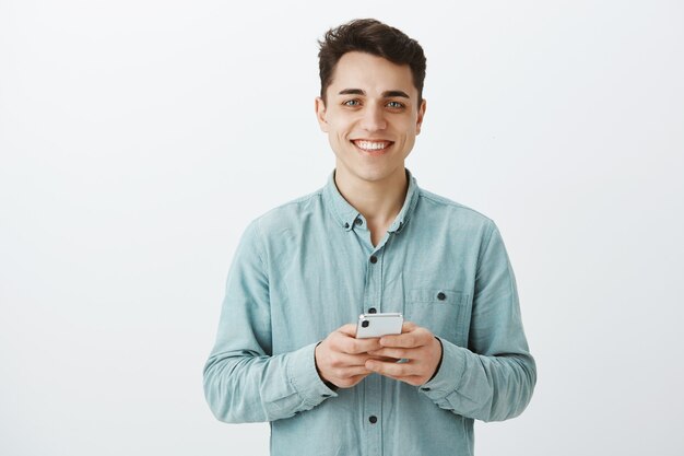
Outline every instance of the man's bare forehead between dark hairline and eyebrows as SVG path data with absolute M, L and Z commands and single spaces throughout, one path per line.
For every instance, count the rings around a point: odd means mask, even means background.
M 329 94 L 337 95 L 344 89 L 362 89 L 369 96 L 400 90 L 411 97 L 417 97 L 409 65 L 397 65 L 382 57 L 358 51 L 343 55 L 332 73 Z

